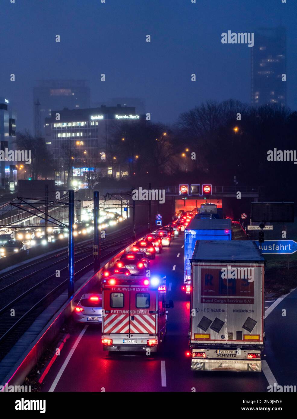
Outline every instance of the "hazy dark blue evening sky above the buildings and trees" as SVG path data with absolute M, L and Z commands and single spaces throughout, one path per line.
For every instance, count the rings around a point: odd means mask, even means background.
M 297 109 L 296 12 L 295 0 L 1 0 L 0 96 L 13 103 L 17 130 L 33 130 L 39 79 L 89 80 L 92 102 L 144 98 L 152 121 L 173 123 L 208 99 L 250 103 L 251 48 L 222 44 L 221 34 L 282 23 L 287 104 Z

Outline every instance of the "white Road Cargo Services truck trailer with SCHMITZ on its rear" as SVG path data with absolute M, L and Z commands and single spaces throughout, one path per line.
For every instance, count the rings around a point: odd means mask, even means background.
M 261 371 L 264 259 L 254 241 L 199 240 L 191 258 L 191 370 Z

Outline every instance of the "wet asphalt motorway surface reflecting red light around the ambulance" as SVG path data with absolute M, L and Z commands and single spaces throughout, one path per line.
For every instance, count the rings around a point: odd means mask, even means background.
M 178 256 L 179 255 L 179 256 Z M 183 235 L 175 238 L 170 248 L 156 256 L 150 265 L 152 274 L 166 275 L 167 300 L 174 301 L 168 310 L 168 332 L 162 350 L 153 356 L 141 354 L 112 354 L 103 351 L 101 328 L 77 326 L 70 334 L 60 355 L 55 359 L 42 383 L 42 391 L 232 391 L 267 392 L 267 386 L 276 382 L 296 384 L 292 365 L 296 365 L 296 328 L 290 316 L 296 314 L 297 291 L 284 300 L 269 300 L 266 318 L 266 360 L 263 372 L 192 372 L 188 349 L 189 296 L 181 290 L 183 284 Z M 275 308 L 274 308 L 275 306 Z M 287 322 L 280 315 L 287 308 Z M 296 318 L 296 317 L 295 317 Z M 274 332 L 274 325 L 288 326 Z M 289 326 L 291 324 L 291 327 Z M 294 327 L 294 326 L 293 326 Z M 280 329 L 278 329 L 280 330 Z M 284 357 L 284 350 L 289 351 Z M 292 349 L 288 349 L 288 348 Z

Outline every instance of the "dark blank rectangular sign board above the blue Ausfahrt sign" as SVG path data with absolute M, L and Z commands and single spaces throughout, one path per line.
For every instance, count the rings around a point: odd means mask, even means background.
M 252 202 L 252 222 L 294 222 L 294 202 Z

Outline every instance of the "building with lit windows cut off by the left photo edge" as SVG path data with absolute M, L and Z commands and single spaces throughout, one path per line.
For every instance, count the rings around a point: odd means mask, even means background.
M 0 150 L 4 155 L 9 151 L 15 151 L 16 147 L 16 112 L 11 108 L 9 101 L 5 97 L 0 97 Z M 0 187 L 8 189 L 10 182 L 17 182 L 17 171 L 15 160 L 8 158 L 6 161 L 0 160 Z

